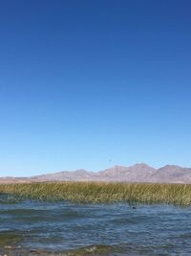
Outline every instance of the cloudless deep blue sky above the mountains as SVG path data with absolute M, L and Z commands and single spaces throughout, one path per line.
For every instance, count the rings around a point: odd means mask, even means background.
M 191 1 L 1 0 L 0 176 L 191 166 Z

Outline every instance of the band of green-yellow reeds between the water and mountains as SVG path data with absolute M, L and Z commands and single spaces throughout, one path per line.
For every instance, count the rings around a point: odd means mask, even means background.
M 37 199 L 75 203 L 134 204 L 168 203 L 191 205 L 191 184 L 42 182 L 0 184 L 0 195 L 14 200 Z M 0 201 L 1 202 L 1 201 Z

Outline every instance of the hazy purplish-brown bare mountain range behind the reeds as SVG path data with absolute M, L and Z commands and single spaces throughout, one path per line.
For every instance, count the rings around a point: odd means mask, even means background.
M 105 181 L 105 182 L 152 182 L 152 183 L 191 183 L 191 168 L 166 165 L 155 169 L 140 163 L 130 167 L 114 166 L 100 172 L 87 172 L 80 169 L 74 172 L 63 171 L 31 177 L 0 177 L 0 183 L 42 182 L 42 181 Z

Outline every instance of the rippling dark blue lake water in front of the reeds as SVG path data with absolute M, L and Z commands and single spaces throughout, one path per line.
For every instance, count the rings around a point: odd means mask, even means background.
M 0 197 L 1 255 L 191 255 L 191 208 Z

